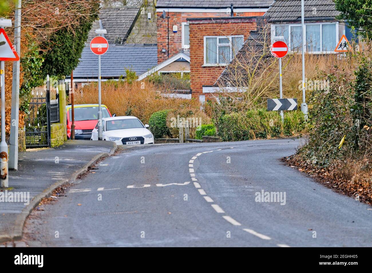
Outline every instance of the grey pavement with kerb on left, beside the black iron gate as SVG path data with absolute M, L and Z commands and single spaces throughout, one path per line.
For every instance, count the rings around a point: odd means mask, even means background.
M 25 192 L 29 202 L 0 203 L 0 242 L 20 239 L 25 218 L 43 197 L 116 148 L 113 142 L 68 140 L 59 147 L 20 152 L 18 171 L 9 171 L 8 193 Z

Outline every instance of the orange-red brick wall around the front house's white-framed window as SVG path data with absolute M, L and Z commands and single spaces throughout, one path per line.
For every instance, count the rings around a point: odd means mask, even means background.
M 250 31 L 256 30 L 256 22 L 202 22 L 190 21 L 190 76 L 192 97 L 205 95 L 207 99 L 209 93 L 203 94 L 203 85 L 214 85 L 225 66 L 203 67 L 204 36 L 244 35 L 245 41 Z

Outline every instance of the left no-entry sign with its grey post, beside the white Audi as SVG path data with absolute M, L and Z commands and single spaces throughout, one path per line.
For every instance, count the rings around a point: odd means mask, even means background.
M 96 29 L 96 34 L 104 35 L 106 29 Z M 101 109 L 101 55 L 105 54 L 109 48 L 109 42 L 105 37 L 97 36 L 90 41 L 90 50 L 98 55 L 98 140 L 102 140 L 102 109 Z

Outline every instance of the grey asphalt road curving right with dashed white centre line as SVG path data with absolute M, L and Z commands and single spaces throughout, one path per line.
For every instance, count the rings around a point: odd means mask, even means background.
M 370 206 L 280 161 L 299 143 L 127 148 L 33 212 L 25 238 L 30 246 L 371 247 Z M 282 199 L 258 202 L 262 191 Z

